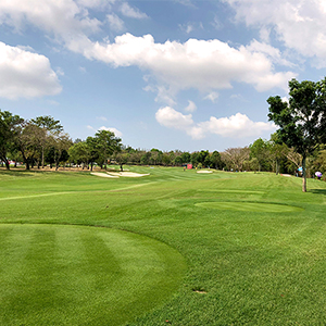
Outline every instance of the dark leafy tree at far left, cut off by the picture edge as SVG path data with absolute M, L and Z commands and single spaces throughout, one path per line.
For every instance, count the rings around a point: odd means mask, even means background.
M 12 115 L 9 111 L 0 110 L 0 160 L 10 170 L 8 152 L 13 150 L 14 140 L 18 135 L 18 126 L 24 122 L 18 115 Z

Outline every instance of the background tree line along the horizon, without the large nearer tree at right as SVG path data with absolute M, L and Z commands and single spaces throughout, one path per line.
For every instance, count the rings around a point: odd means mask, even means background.
M 120 164 L 210 167 L 224 171 L 265 171 L 293 174 L 302 164 L 302 154 L 280 141 L 277 134 L 269 140 L 256 139 L 243 148 L 228 148 L 223 152 L 201 150 L 143 150 L 124 146 L 122 139 L 109 130 L 99 130 L 86 140 L 64 133 L 60 121 L 51 116 L 38 116 L 29 121 L 0 111 L 0 160 L 10 168 L 10 160 L 23 162 L 26 170 L 50 165 L 78 165 L 106 168 L 111 162 Z M 316 149 L 308 160 L 308 170 L 326 172 L 326 147 Z

